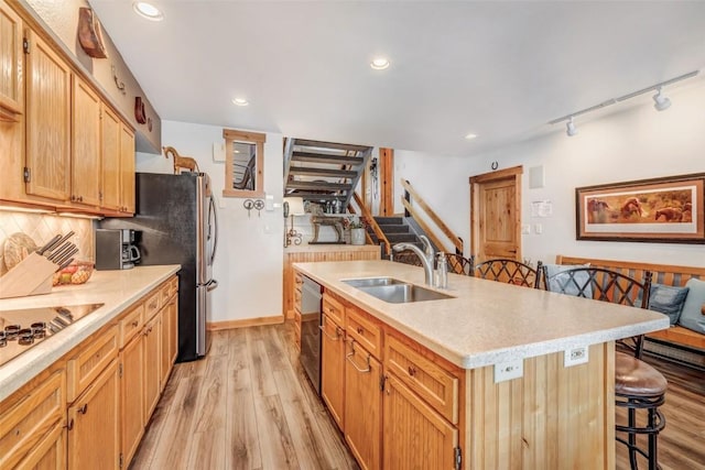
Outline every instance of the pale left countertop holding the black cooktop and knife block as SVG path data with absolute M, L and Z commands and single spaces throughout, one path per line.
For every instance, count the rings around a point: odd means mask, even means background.
M 123 271 L 94 271 L 86 284 L 56 286 L 52 293 L 0 300 L 1 310 L 105 304 L 56 335 L 0 365 L 0 401 L 98 331 L 126 308 L 175 274 L 181 266 L 139 266 Z

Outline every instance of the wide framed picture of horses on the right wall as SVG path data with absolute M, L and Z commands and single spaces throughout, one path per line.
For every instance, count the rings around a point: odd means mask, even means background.
M 575 188 L 576 239 L 705 243 L 705 173 Z

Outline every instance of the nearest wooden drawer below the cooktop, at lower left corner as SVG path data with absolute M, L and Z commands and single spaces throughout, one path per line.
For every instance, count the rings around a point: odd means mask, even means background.
M 14 468 L 57 423 L 63 426 L 64 380 L 63 369 L 54 372 L 0 415 L 0 468 Z

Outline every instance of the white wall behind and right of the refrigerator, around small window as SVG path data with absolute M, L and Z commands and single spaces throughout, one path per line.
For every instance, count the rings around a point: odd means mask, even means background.
M 214 277 L 219 286 L 214 291 L 212 318 L 227 321 L 270 317 L 282 314 L 283 217 L 281 201 L 282 135 L 267 134 L 264 143 L 264 190 L 274 196 L 274 210 L 258 214 L 242 207 L 243 198 L 225 198 L 225 163 L 214 162 L 213 144 L 223 143 L 223 128 L 162 121 L 162 142 L 182 156 L 198 162 L 208 173 L 218 205 L 218 251 Z M 137 171 L 172 173 L 173 163 L 164 155 L 138 153 Z

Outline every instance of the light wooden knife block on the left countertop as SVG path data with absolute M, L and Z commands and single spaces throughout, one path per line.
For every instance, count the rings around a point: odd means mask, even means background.
M 52 292 L 52 277 L 58 265 L 46 258 L 30 253 L 0 277 L 0 298 L 24 297 Z

